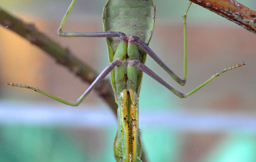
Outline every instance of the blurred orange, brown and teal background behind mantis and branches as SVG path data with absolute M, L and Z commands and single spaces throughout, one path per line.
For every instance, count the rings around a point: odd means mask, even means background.
M 98 72 L 108 65 L 105 38 L 59 38 L 71 0 L 1 0 L 1 7 L 31 22 Z M 155 0 L 157 22 L 150 47 L 183 76 L 183 19 L 188 0 Z M 256 2 L 239 0 L 256 10 Z M 105 0 L 77 0 L 63 31 L 102 31 Z M 179 99 L 147 75 L 140 93 L 140 131 L 150 162 L 255 162 L 255 34 L 192 4 L 188 13 L 188 78 L 174 82 L 151 58 L 146 65 L 183 93 L 214 73 L 242 63 L 195 94 Z M 109 76 L 108 76 L 109 78 Z M 7 82 L 39 87 L 75 101 L 89 85 L 47 53 L 0 27 L 0 161 L 114 162 L 116 118 L 91 94 L 69 107 Z

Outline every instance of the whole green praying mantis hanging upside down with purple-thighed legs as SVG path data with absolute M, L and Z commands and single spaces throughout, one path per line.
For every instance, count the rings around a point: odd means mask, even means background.
M 241 67 L 238 64 L 216 73 L 203 84 L 188 94 L 183 94 L 167 84 L 162 78 L 145 66 L 147 54 L 152 57 L 177 83 L 186 83 L 187 49 L 186 49 L 186 14 L 184 14 L 184 78 L 179 78 L 148 47 L 156 20 L 156 6 L 153 0 L 108 0 L 103 9 L 104 32 L 63 32 L 62 27 L 76 0 L 72 0 L 65 14 L 58 35 L 61 37 L 106 37 L 109 53 L 109 65 L 74 103 L 49 95 L 39 89 L 26 85 L 10 83 L 11 86 L 35 90 L 56 101 L 70 106 L 78 106 L 101 80 L 111 73 L 111 82 L 118 104 L 118 129 L 114 138 L 113 151 L 116 162 L 142 162 L 142 148 L 138 135 L 138 96 L 142 83 L 142 73 L 147 73 L 160 84 L 180 98 L 188 97 L 201 87 L 227 70 Z

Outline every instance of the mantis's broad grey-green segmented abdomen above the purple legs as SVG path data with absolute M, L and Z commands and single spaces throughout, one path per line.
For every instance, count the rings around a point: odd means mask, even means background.
M 104 29 L 138 36 L 148 44 L 155 24 L 155 11 L 152 0 L 109 0 L 103 10 Z M 120 42 L 109 38 L 111 43 L 113 40 Z

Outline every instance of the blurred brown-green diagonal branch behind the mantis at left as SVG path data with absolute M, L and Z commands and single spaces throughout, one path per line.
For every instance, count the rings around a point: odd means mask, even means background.
M 65 66 L 72 73 L 80 77 L 84 82 L 92 84 L 98 76 L 98 73 L 86 65 L 83 61 L 72 54 L 68 49 L 48 38 L 42 32 L 39 32 L 34 24 L 27 24 L 22 20 L 8 14 L 0 7 L 0 24 L 6 29 L 10 29 L 20 36 L 24 37 L 32 44 L 35 44 L 42 50 L 52 56 L 57 63 Z M 109 80 L 102 80 L 95 89 L 97 94 L 103 98 L 111 107 L 117 116 L 117 104 Z

